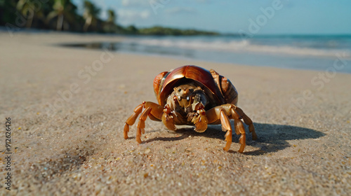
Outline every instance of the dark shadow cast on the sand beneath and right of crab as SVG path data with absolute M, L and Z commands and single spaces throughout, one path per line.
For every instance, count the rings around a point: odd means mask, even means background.
M 274 153 L 281 151 L 284 148 L 291 146 L 289 140 L 295 139 L 317 139 L 323 137 L 325 134 L 316 130 L 311 130 L 305 127 L 296 127 L 291 125 L 274 125 L 265 123 L 253 123 L 258 135 L 256 141 L 252 140 L 251 133 L 246 130 L 246 145 L 259 148 L 255 151 L 244 152 L 247 155 L 263 155 L 265 153 Z M 233 125 L 232 125 L 233 126 Z M 220 125 L 209 125 L 207 130 L 203 133 L 195 132 L 191 127 L 181 128 L 176 130 L 177 134 L 182 134 L 180 137 L 157 137 L 148 139 L 145 143 L 151 141 L 177 141 L 185 139 L 189 136 L 192 137 L 208 137 L 216 139 L 224 139 L 225 132 L 222 132 Z M 239 136 L 233 134 L 233 142 L 238 143 Z M 235 151 L 230 151 L 235 153 Z

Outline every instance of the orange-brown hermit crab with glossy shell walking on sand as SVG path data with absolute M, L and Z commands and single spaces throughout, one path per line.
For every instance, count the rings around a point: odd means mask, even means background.
M 180 66 L 173 71 L 164 71 L 154 78 L 154 102 L 143 102 L 134 109 L 133 114 L 124 125 L 124 139 L 128 139 L 129 126 L 135 123 L 143 108 L 137 126 L 136 141 L 140 144 L 141 134 L 145 134 L 145 120 L 162 121 L 169 130 L 176 130 L 176 125 L 193 125 L 196 132 L 204 132 L 207 125 L 222 124 L 227 144 L 223 150 L 228 151 L 232 144 L 232 126 L 241 134 L 239 153 L 244 152 L 246 135 L 244 120 L 249 125 L 253 140 L 257 139 L 252 120 L 237 107 L 238 92 L 234 85 L 216 71 L 199 66 Z

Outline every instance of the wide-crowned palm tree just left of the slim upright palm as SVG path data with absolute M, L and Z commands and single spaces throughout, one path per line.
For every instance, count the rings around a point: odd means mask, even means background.
M 74 12 L 75 6 L 70 0 L 55 0 L 55 3 L 53 3 L 53 11 L 48 14 L 47 20 L 57 17 L 58 22 L 56 24 L 56 29 L 60 31 L 64 25 L 65 18 L 68 21 L 74 21 Z

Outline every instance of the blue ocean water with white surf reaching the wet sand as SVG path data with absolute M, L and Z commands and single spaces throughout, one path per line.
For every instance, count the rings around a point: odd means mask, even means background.
M 71 44 L 72 45 L 72 44 Z M 351 73 L 350 36 L 128 36 L 73 46 L 251 66 Z

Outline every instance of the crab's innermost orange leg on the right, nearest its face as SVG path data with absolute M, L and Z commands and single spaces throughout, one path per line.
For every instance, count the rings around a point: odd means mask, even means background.
M 220 124 L 222 124 L 223 131 L 227 131 L 227 133 L 225 134 L 225 141 L 227 141 L 227 144 L 225 144 L 225 147 L 223 148 L 223 150 L 225 151 L 229 151 L 230 145 L 232 144 L 232 126 L 230 125 L 230 121 L 228 118 L 229 114 L 230 113 L 226 112 L 222 106 L 216 106 L 213 109 L 210 109 L 206 112 L 208 124 L 216 124 L 219 121 Z M 242 149 L 243 151 L 244 148 Z M 240 153 L 242 153 L 242 151 Z

